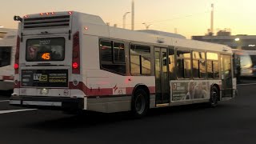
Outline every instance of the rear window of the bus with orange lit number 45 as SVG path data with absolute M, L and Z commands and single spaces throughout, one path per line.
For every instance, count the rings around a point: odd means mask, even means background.
M 37 38 L 26 41 L 26 61 L 63 61 L 65 38 Z

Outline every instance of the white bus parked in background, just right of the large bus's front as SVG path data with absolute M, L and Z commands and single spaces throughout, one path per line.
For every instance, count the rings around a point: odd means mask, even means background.
M 241 77 L 251 77 L 253 76 L 253 62 L 250 58 L 250 54 L 247 50 L 238 50 L 238 49 L 232 49 L 234 52 L 234 59 L 237 65 L 240 65 Z M 239 64 L 240 63 L 240 64 Z

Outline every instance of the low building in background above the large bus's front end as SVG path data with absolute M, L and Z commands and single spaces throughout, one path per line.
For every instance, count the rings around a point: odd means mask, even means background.
M 231 35 L 230 30 L 219 30 L 216 35 L 208 33 L 203 36 L 192 36 L 192 39 L 204 42 L 214 42 L 230 46 L 233 49 L 256 50 L 256 35 Z

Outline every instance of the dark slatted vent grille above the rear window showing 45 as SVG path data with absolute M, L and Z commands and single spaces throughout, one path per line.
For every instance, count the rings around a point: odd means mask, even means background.
M 49 27 L 68 27 L 70 26 L 70 15 L 24 18 L 24 29 L 38 29 Z

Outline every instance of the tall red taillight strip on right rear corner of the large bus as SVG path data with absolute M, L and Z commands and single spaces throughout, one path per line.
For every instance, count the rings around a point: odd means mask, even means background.
M 72 74 L 80 74 L 79 32 L 73 35 Z

